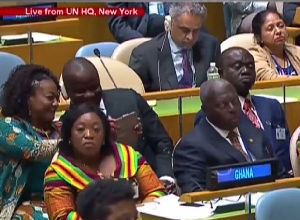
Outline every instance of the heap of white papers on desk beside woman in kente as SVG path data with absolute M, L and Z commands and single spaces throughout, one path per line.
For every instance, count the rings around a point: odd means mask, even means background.
M 155 200 L 156 202 L 145 203 L 137 209 L 141 214 L 174 220 L 205 219 L 213 215 L 210 205 L 201 207 L 182 206 L 182 202 L 178 200 L 179 197 L 168 195 Z

